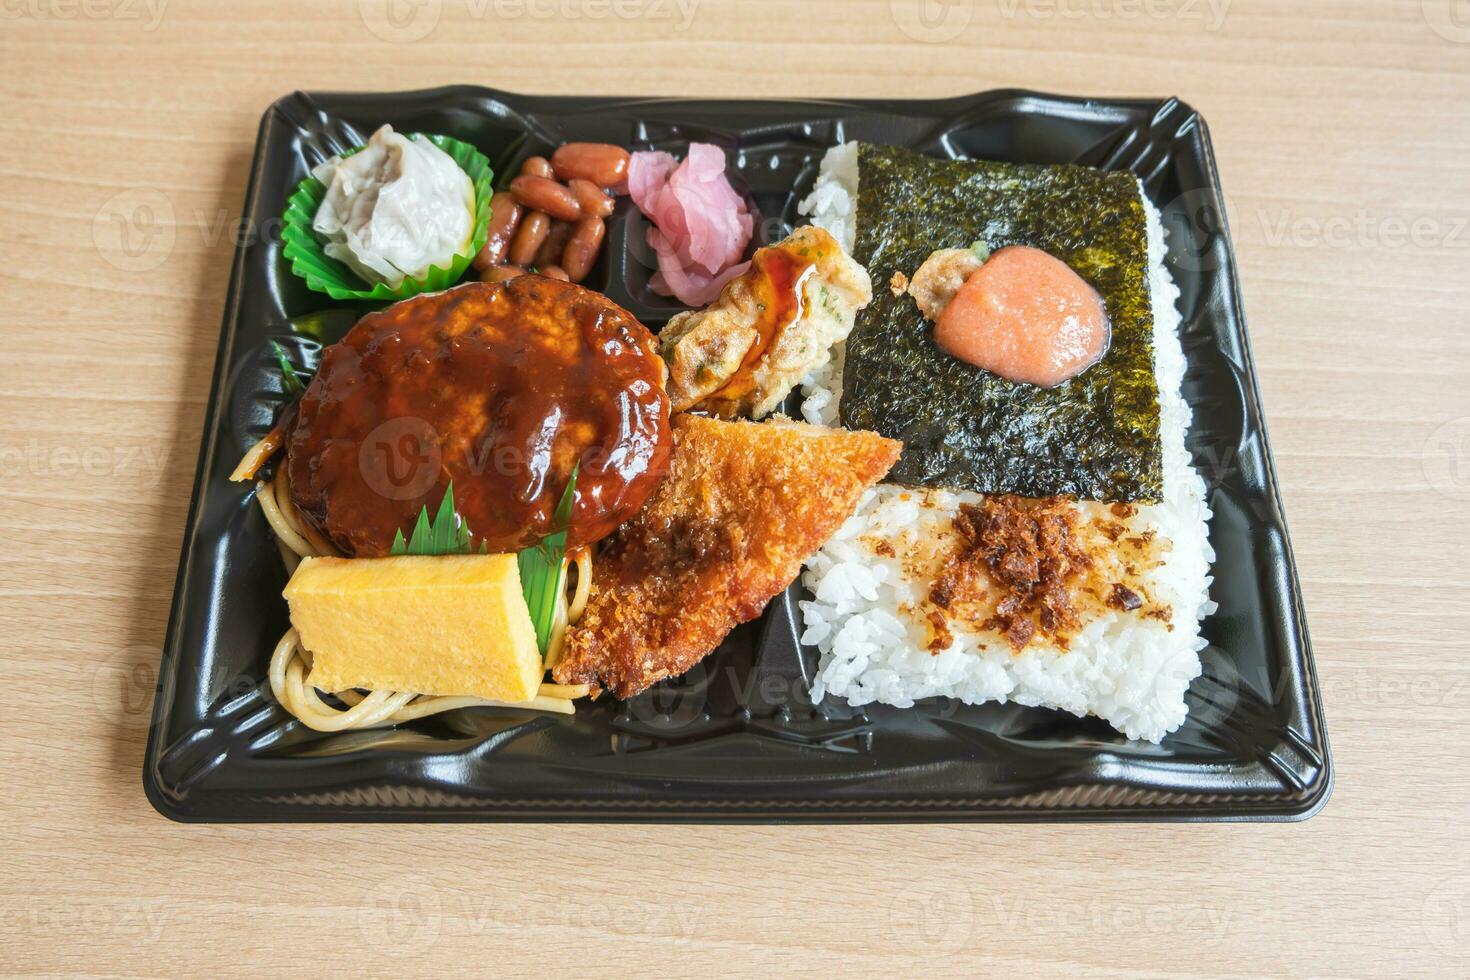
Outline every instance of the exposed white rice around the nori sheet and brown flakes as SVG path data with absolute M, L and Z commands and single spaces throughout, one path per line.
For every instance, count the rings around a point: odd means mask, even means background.
M 1139 190 L 1142 194 L 1142 188 Z M 801 212 L 853 247 L 857 201 L 857 145 L 828 151 Z M 1161 403 L 1164 495 L 1138 507 L 1132 532 L 1152 529 L 1172 542 L 1166 560 L 1147 573 L 1148 595 L 1169 608 L 1169 620 L 1107 611 L 1092 616 L 1066 651 L 1033 639 L 1016 654 L 995 633 L 953 621 L 954 642 L 933 654 L 929 632 L 908 614 L 929 582 L 908 580 L 906 551 L 953 535 L 950 522 L 963 502 L 980 498 L 948 491 L 881 485 L 857 513 L 807 563 L 803 583 L 814 597 L 801 602 L 804 644 L 822 654 L 813 701 L 831 693 L 854 705 L 910 707 L 920 698 L 947 696 L 969 704 L 1014 701 L 1095 714 L 1132 739 L 1160 741 L 1188 711 L 1185 691 L 1200 676 L 1200 620 L 1210 601 L 1210 508 L 1205 488 L 1189 461 L 1185 432 L 1191 410 L 1180 395 L 1185 359 L 1179 344 L 1179 289 L 1164 267 L 1164 231 L 1158 210 L 1148 213 L 1150 294 L 1154 307 L 1154 367 Z M 803 382 L 807 422 L 836 425 L 842 357 Z M 1097 507 L 1082 504 L 1079 507 Z M 875 547 L 878 545 L 878 547 Z M 892 552 L 892 554 L 889 554 Z M 911 564 L 910 564 L 911 567 Z

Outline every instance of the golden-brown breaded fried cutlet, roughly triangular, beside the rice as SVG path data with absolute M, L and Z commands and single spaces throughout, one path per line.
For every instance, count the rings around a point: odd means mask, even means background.
M 631 698 L 760 616 L 898 460 L 903 444 L 800 422 L 675 416 L 669 476 L 609 538 L 553 669 Z

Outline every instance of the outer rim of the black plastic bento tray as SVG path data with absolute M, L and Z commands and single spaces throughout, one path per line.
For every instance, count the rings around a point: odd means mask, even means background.
M 1019 804 L 1017 796 L 997 801 L 988 805 L 983 799 L 948 801 L 948 799 L 873 799 L 873 801 L 711 801 L 707 805 L 692 804 L 686 799 L 666 801 L 516 801 L 495 799 L 476 801 L 479 805 L 465 807 L 385 807 L 385 805 L 351 805 L 351 804 L 304 804 L 304 802 L 273 802 L 276 813 L 266 814 L 196 814 L 182 810 L 163 792 L 157 782 L 159 733 L 163 729 L 165 713 L 172 707 L 171 695 L 175 686 L 175 671 L 182 666 L 176 645 L 182 624 L 185 599 L 188 598 L 188 573 L 193 567 L 193 544 L 198 533 L 200 504 L 209 478 L 209 461 L 218 448 L 220 428 L 219 414 L 223 408 L 222 394 L 225 375 L 229 369 L 228 354 L 234 350 L 234 338 L 238 328 L 241 294 L 245 275 L 245 245 L 237 244 L 234 260 L 231 262 L 229 287 L 225 294 L 222 310 L 219 344 L 215 353 L 215 367 L 210 379 L 209 395 L 204 410 L 204 428 L 200 438 L 200 451 L 196 461 L 194 483 L 190 492 L 190 505 L 185 517 L 184 535 L 179 545 L 179 564 L 173 582 L 173 594 L 169 605 L 168 629 L 163 639 L 159 677 L 154 685 L 154 701 L 150 713 L 148 739 L 143 758 L 143 789 L 153 808 L 175 823 L 713 823 L 713 824 L 848 824 L 848 823 L 1301 823 L 1326 807 L 1336 785 L 1336 765 L 1333 761 L 1330 738 L 1326 724 L 1326 714 L 1322 702 L 1322 688 L 1317 677 L 1316 655 L 1307 627 L 1305 608 L 1301 594 L 1301 580 L 1297 570 L 1295 550 L 1291 542 L 1291 529 L 1286 522 L 1286 511 L 1280 498 L 1280 482 L 1276 473 L 1276 458 L 1270 448 L 1270 433 L 1260 392 L 1260 379 L 1255 369 L 1255 354 L 1250 336 L 1250 323 L 1245 314 L 1244 297 L 1241 292 L 1239 266 L 1235 256 L 1235 238 L 1229 229 L 1229 217 L 1223 206 L 1223 187 L 1214 156 L 1214 143 L 1210 135 L 1204 115 L 1177 97 L 1141 98 L 1141 97 L 1095 97 L 1095 96 L 1066 96 L 1044 93 L 1028 88 L 991 88 L 942 98 L 691 98 L 663 96 L 567 96 L 567 94 L 529 94 L 513 93 L 473 84 L 451 84 L 431 88 L 403 91 L 343 91 L 319 90 L 307 93 L 294 90 L 273 100 L 262 113 L 256 131 L 254 148 L 251 153 L 250 172 L 245 184 L 244 207 L 241 215 L 254 213 L 260 185 L 263 162 L 269 148 L 269 129 L 279 107 L 287 101 L 307 96 L 322 98 L 357 98 L 357 97 L 392 97 L 401 100 L 412 98 L 444 98 L 451 96 L 473 96 L 478 98 L 509 100 L 526 110 L 544 110 L 566 107 L 569 104 L 597 101 L 603 106 L 678 106 L 681 103 L 720 103 L 741 106 L 813 106 L 813 107 L 847 107 L 889 110 L 910 116 L 942 116 L 945 107 L 960 107 L 980 98 L 994 100 L 1035 100 L 1050 104 L 1076 104 L 1092 110 L 1097 109 L 1150 109 L 1166 103 L 1175 103 L 1188 110 L 1192 125 L 1198 129 L 1201 159 L 1200 163 L 1208 178 L 1213 203 L 1219 204 L 1217 215 L 1223 231 L 1223 248 L 1226 253 L 1230 275 L 1230 301 L 1235 309 L 1235 319 L 1239 322 L 1241 338 L 1241 375 L 1242 394 L 1250 407 L 1254 408 L 1255 423 L 1260 430 L 1263 464 L 1269 483 L 1272 502 L 1280 516 L 1279 529 L 1285 544 L 1286 573 L 1291 592 L 1291 608 L 1295 619 L 1295 641 L 1301 649 L 1302 664 L 1302 696 L 1307 714 L 1320 736 L 1322 767 L 1314 785 L 1302 789 L 1297 796 L 1280 796 L 1276 805 L 1248 807 L 1251 799 L 1274 799 L 1274 793 L 1216 793 L 1202 804 L 1144 804 L 1119 807 L 1089 807 L 1089 805 L 1048 805 L 1048 804 Z M 922 110 L 920 110 L 922 107 Z M 907 113 L 904 112 L 907 110 Z M 1119 113 L 1120 116 L 1123 113 Z M 1108 783 L 1076 783 L 1107 789 Z M 394 786 L 379 786 L 394 789 Z M 407 789 L 407 788 L 406 788 Z M 425 790 L 441 792 L 441 790 Z M 1041 790 L 1039 795 L 1045 795 Z M 1055 790 L 1050 790 L 1055 792 Z M 1038 795 L 1038 793 L 1030 793 Z M 268 801 L 269 802 L 269 801 Z M 951 805 L 953 802 L 953 805 Z M 257 801 L 259 805 L 259 801 Z M 566 808 L 559 808 L 566 807 Z M 578 807 L 573 810 L 570 807 Z

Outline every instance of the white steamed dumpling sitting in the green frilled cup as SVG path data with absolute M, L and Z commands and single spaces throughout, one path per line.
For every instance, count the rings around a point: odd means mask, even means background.
M 365 282 L 397 288 L 469 248 L 475 185 L 423 135 L 382 126 L 362 150 L 332 157 L 312 176 L 326 185 L 312 231 Z

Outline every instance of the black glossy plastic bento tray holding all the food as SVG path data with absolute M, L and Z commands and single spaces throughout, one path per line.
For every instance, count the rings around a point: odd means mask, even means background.
M 360 309 L 310 292 L 281 257 L 279 216 L 307 169 L 390 122 L 478 145 L 504 182 L 567 140 L 725 145 L 736 185 L 785 234 L 823 150 L 844 140 L 938 156 L 1080 162 L 1139 175 L 1163 209 L 1180 287 L 1189 448 L 1217 552 L 1204 674 L 1161 745 L 1097 718 L 928 701 L 851 708 L 807 698 L 794 585 L 685 677 L 575 717 L 472 708 L 322 735 L 275 704 L 285 569 L 247 486 L 228 480 L 284 403 L 272 338 L 341 329 Z M 779 217 L 781 220 L 772 220 Z M 679 307 L 648 291 L 628 204 L 588 285 L 650 328 Z M 453 87 L 306 94 L 260 123 L 209 416 L 159 673 L 144 786 L 168 817 L 298 820 L 1217 820 L 1302 818 L 1332 761 L 1291 542 L 1261 419 L 1220 185 L 1204 120 L 1177 100 L 994 91 L 936 101 L 542 98 Z M 326 311 L 320 317 L 312 317 Z M 306 319 L 303 319 L 306 317 Z

